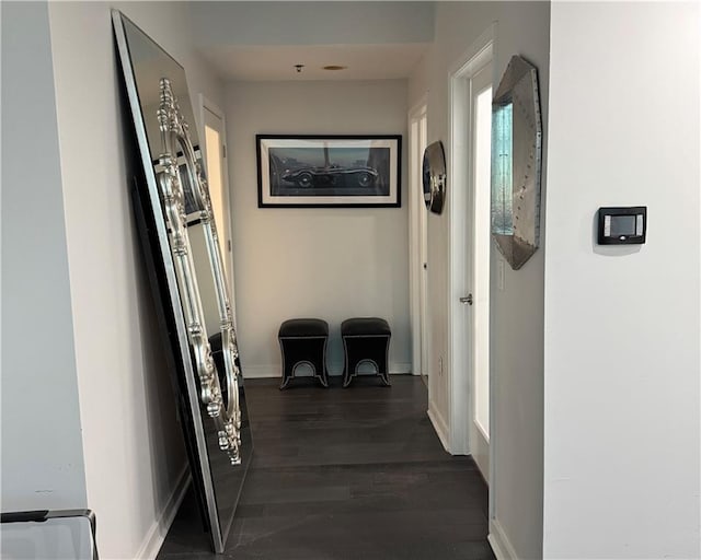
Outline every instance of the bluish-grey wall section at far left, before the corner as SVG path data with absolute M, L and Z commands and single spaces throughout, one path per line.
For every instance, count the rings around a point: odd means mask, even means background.
M 1 10 L 2 511 L 84 508 L 48 10 Z

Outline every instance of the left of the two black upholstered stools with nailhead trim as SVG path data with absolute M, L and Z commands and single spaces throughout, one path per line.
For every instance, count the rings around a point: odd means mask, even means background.
M 314 371 L 324 387 L 329 386 L 326 373 L 326 341 L 329 324 L 322 319 L 289 319 L 280 325 L 277 334 L 283 352 L 283 383 L 287 387 L 295 377 L 298 365 L 307 364 Z

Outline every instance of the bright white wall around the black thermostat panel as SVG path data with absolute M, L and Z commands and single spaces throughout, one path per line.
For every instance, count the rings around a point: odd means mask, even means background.
M 552 7 L 545 558 L 701 556 L 699 10 Z M 644 245 L 595 245 L 639 205 Z

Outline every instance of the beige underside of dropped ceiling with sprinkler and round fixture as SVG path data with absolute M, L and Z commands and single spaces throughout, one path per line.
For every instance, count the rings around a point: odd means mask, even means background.
M 225 81 L 388 80 L 407 78 L 429 44 L 226 45 L 199 51 Z M 295 66 L 303 65 L 297 72 Z M 345 70 L 323 70 L 337 65 Z

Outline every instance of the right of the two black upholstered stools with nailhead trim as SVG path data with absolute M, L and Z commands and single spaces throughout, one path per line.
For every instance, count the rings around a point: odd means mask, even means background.
M 392 331 L 387 320 L 378 317 L 356 317 L 341 324 L 345 352 L 343 386 L 347 387 L 358 374 L 358 365 L 370 362 L 384 385 L 390 384 L 388 354 Z

